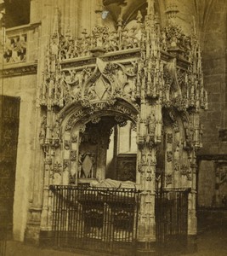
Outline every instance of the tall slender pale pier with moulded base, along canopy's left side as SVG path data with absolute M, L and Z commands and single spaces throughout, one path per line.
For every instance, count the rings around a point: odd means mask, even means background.
M 30 196 L 30 207 L 28 210 L 28 221 L 26 227 L 25 240 L 28 242 L 38 244 L 40 225 L 41 225 L 41 214 L 43 211 L 43 198 L 45 200 L 45 189 L 43 194 L 43 175 L 44 175 L 44 158 L 43 158 L 43 148 L 40 145 L 40 131 L 41 123 L 43 119 L 43 112 L 39 105 L 39 88 L 43 83 L 43 70 L 45 67 L 45 57 L 47 52 L 49 33 L 52 23 L 52 18 L 54 15 L 54 5 L 53 1 L 44 0 L 42 1 L 32 1 L 31 3 L 31 15 L 35 12 L 32 9 L 42 10 L 40 14 L 36 17 L 31 17 L 33 22 L 37 22 L 38 18 L 42 20 L 42 32 L 39 38 L 39 44 L 37 49 L 38 67 L 37 67 L 37 110 L 34 117 L 34 129 L 35 129 L 35 143 L 33 151 L 33 162 L 34 166 L 31 170 L 32 180 L 31 180 L 31 196 Z M 45 181 L 44 181 L 45 183 Z

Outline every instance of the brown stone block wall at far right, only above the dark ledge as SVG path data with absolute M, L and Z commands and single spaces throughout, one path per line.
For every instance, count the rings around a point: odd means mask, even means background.
M 217 1 L 213 6 L 204 38 L 203 72 L 208 93 L 208 110 L 202 113 L 204 125 L 201 154 L 226 154 L 227 143 L 218 131 L 226 129 L 226 5 Z

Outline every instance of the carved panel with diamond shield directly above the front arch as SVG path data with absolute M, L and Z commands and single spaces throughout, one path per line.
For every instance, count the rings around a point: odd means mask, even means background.
M 84 108 L 90 106 L 91 102 L 106 101 L 111 102 L 116 99 L 116 96 L 121 96 L 129 101 L 134 102 L 134 64 L 128 67 L 122 64 L 101 61 L 97 59 L 95 68 L 83 68 L 82 70 L 64 69 L 62 78 L 59 82 L 56 81 L 55 87 L 59 88 L 61 106 L 71 102 L 80 102 Z M 47 102 L 48 84 L 43 84 L 45 87 L 41 94 L 41 102 Z M 54 85 L 52 85 L 54 87 Z M 44 97 L 43 97 L 44 96 Z M 52 96 L 52 102 L 54 104 Z

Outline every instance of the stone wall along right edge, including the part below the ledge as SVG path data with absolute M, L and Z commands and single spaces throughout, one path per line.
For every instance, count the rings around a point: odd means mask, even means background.
M 226 2 L 216 1 L 203 35 L 202 58 L 208 110 L 201 113 L 204 130 L 203 147 L 198 158 L 199 207 L 223 207 L 220 198 L 224 195 L 219 195 L 218 199 L 217 194 L 223 192 L 219 191 L 216 179 L 219 172 L 218 163 L 225 166 L 222 162 L 226 160 L 227 155 L 226 17 Z M 226 183 L 222 184 L 222 187 L 226 187 Z

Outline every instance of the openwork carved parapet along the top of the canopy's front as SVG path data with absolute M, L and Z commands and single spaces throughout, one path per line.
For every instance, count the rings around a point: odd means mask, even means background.
M 96 56 L 105 52 L 139 47 L 137 34 L 139 29 L 124 29 L 120 32 L 110 31 L 108 26 L 94 26 L 88 34 L 82 32 L 81 38 L 62 36 L 60 38 L 60 59 L 69 60 L 80 56 Z

